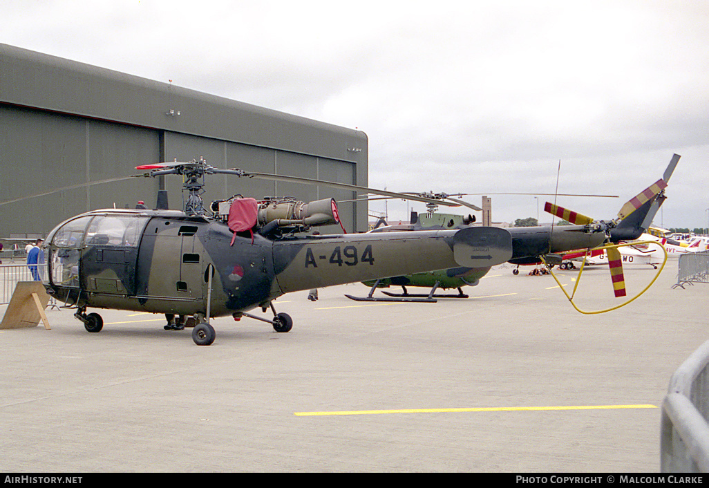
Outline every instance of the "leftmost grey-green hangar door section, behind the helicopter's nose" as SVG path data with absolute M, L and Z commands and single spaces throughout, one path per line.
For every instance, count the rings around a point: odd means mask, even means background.
M 4 235 L 46 234 L 74 215 L 135 206 L 155 193 L 155 182 L 138 178 L 77 186 L 130 177 L 159 160 L 157 131 L 9 105 L 0 105 L 0 127 L 0 155 L 12 171 L 0 201 L 23 199 L 3 206 Z

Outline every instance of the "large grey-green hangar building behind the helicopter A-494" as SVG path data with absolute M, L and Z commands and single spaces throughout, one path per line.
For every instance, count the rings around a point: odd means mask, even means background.
M 367 135 L 220 96 L 0 44 L 0 238 L 43 237 L 95 209 L 155 208 L 182 177 L 126 178 L 138 165 L 203 157 L 220 168 L 367 186 Z M 122 179 L 126 178 L 126 179 Z M 235 194 L 333 197 L 347 232 L 367 230 L 352 191 L 225 174 L 206 177 L 205 206 Z M 100 184 L 89 184 L 114 180 Z M 318 228 L 342 232 L 340 226 Z

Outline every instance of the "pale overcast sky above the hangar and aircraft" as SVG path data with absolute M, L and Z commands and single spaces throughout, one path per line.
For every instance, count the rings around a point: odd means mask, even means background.
M 613 218 L 678 153 L 654 223 L 708 224 L 706 1 L 1 0 L 0 18 L 0 43 L 358 128 L 369 186 L 395 192 L 553 194 L 560 161 L 559 193 L 620 198 L 557 203 Z M 494 221 L 551 220 L 553 196 L 492 198 Z

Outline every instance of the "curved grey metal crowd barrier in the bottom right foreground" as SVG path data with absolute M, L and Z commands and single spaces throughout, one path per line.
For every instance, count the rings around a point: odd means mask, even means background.
M 676 370 L 662 402 L 661 472 L 709 472 L 709 340 Z

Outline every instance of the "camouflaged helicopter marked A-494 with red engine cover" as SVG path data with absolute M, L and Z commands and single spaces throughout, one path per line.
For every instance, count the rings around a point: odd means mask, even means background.
M 204 209 L 199 196 L 205 175 L 281 179 L 326 184 L 399 198 L 423 197 L 300 177 L 223 170 L 204 160 L 139 166 L 145 176 L 181 174 L 189 194 L 184 211 L 105 209 L 69 218 L 45 239 L 45 287 L 76 309 L 89 332 L 103 320 L 87 309 L 123 309 L 194 318 L 192 338 L 209 345 L 216 337 L 210 319 L 256 318 L 277 332 L 293 321 L 278 313 L 279 296 L 335 284 L 469 267 L 489 270 L 506 261 L 535 261 L 550 253 L 594 248 L 605 241 L 637 238 L 664 201 L 663 184 L 642 193 L 632 211 L 611 221 L 575 226 L 404 231 L 303 235 L 312 226 L 339 223 L 333 199 L 304 203 L 294 199 L 234 196 Z M 159 199 L 160 200 L 160 199 Z M 437 202 L 437 204 L 441 204 Z M 454 206 L 454 204 L 451 204 Z M 624 207 L 625 208 L 625 207 Z M 272 318 L 249 313 L 272 311 Z

